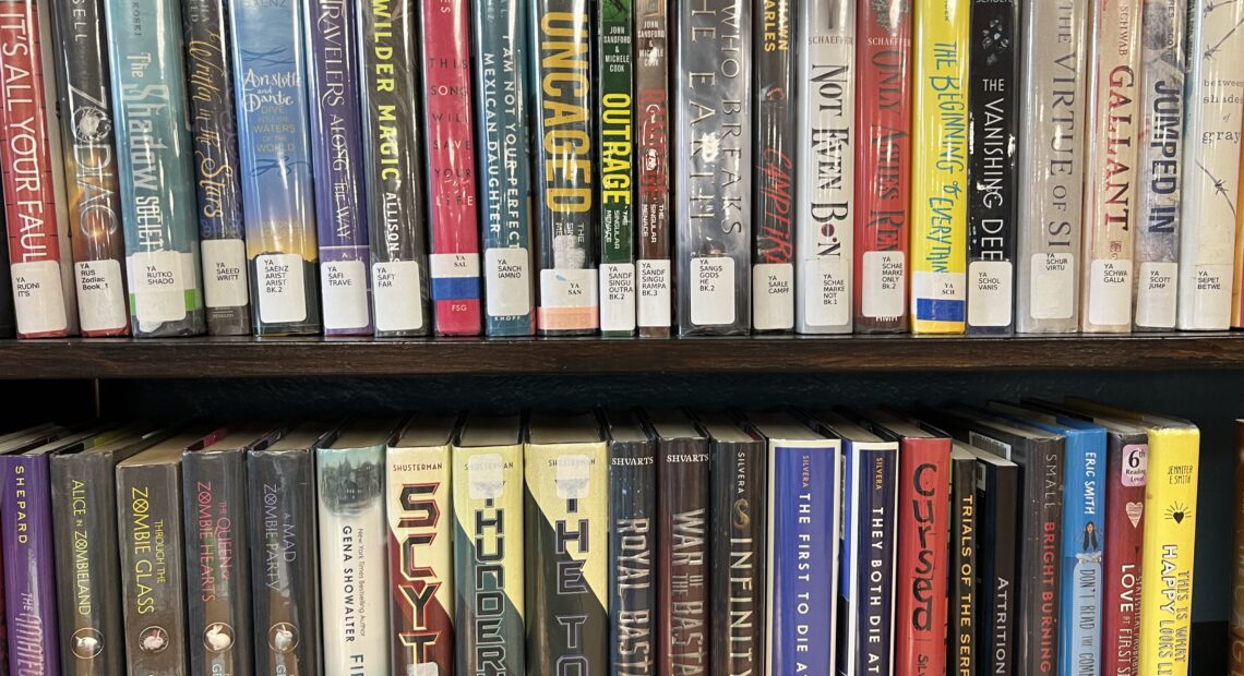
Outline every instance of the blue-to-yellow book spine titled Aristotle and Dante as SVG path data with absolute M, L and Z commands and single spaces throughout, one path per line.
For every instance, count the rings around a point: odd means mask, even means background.
M 256 336 L 320 333 L 304 1 L 229 5 Z

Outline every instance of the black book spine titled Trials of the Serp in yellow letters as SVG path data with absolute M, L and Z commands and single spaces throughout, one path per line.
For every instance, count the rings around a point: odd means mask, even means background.
M 980 503 L 977 501 L 977 461 L 950 461 L 950 631 L 947 669 L 950 676 L 977 676 L 988 656 L 977 637 L 984 604 L 977 594 L 980 557 Z M 984 656 L 984 657 L 983 657 Z

